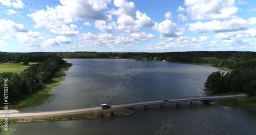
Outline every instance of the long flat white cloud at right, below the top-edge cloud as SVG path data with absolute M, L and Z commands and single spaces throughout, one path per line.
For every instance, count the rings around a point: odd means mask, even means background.
M 247 20 L 232 16 L 232 18 L 228 20 L 198 21 L 195 24 L 188 24 L 188 26 L 190 31 L 196 33 L 209 33 L 245 30 L 249 25 Z

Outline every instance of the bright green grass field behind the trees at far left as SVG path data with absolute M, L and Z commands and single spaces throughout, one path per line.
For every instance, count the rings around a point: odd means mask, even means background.
M 39 62 L 29 62 L 29 65 L 23 65 L 20 63 L 0 63 L 0 73 L 1 72 L 15 72 L 20 73 L 27 69 L 32 64 L 37 64 Z

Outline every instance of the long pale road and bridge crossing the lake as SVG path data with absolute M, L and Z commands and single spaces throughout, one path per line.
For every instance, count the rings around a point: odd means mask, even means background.
M 138 107 L 144 106 L 147 109 L 148 105 L 161 105 L 164 107 L 165 104 L 176 103 L 176 105 L 181 105 L 182 102 L 190 102 L 191 104 L 196 103 L 196 101 L 207 101 L 215 99 L 227 99 L 227 98 L 242 98 L 248 97 L 246 94 L 239 95 L 226 95 L 226 96 L 204 96 L 204 97 L 189 97 L 189 98 L 176 98 L 176 99 L 166 99 L 167 102 L 163 100 L 154 100 L 154 101 L 141 101 L 141 102 L 130 102 L 122 103 L 119 105 L 111 105 L 111 108 L 127 108 L 127 107 Z M 59 110 L 59 111 L 44 111 L 44 112 L 35 112 L 35 113 L 19 113 L 12 111 L 8 113 L 8 118 L 31 118 L 31 117 L 45 117 L 45 116 L 55 116 L 55 115 L 67 115 L 67 114 L 76 114 L 84 113 L 88 111 L 102 110 L 101 107 L 94 108 L 83 108 L 83 109 L 71 109 L 71 110 Z M 4 113 L 0 113 L 0 119 L 5 119 Z

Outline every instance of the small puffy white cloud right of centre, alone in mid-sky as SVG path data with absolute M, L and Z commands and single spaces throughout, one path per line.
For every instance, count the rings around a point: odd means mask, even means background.
M 160 33 L 162 36 L 166 37 L 176 37 L 182 36 L 185 32 L 185 28 L 177 28 L 177 25 L 172 22 L 172 20 L 165 19 L 164 21 L 160 22 L 159 24 L 156 22 L 153 30 Z

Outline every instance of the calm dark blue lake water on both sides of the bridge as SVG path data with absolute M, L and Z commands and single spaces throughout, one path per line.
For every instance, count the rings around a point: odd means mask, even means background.
M 49 103 L 24 108 L 45 111 L 176 97 L 202 96 L 211 66 L 126 59 L 66 59 L 73 66 Z M 132 71 L 132 72 L 131 72 Z M 122 84 L 115 96 L 108 89 Z M 101 100 L 100 100 L 101 99 Z M 256 114 L 238 107 L 199 103 L 181 108 L 137 107 L 134 115 L 115 118 L 18 123 L 15 134 L 254 134 Z M 168 129 L 168 130 L 167 130 Z

